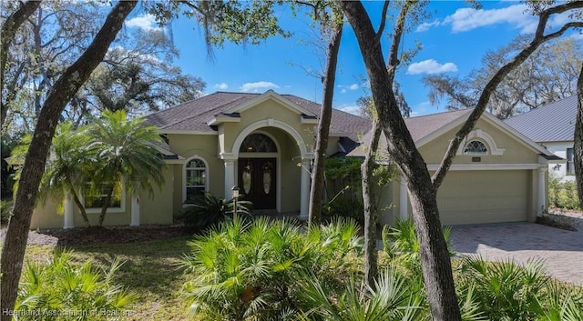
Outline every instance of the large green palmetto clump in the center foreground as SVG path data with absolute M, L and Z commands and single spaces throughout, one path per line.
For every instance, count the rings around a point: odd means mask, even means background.
M 362 239 L 353 222 L 302 231 L 289 221 L 226 221 L 197 236 L 184 256 L 192 279 L 183 291 L 190 313 L 212 320 L 281 320 L 300 312 L 299 280 L 312 273 L 341 287 L 360 270 Z

